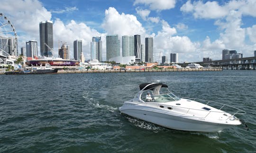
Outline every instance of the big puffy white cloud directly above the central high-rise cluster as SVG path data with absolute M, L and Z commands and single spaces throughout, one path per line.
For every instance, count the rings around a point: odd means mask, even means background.
M 105 11 L 105 18 L 101 25 L 107 34 L 135 35 L 145 34 L 146 30 L 137 20 L 137 17 L 130 14 L 119 14 L 116 8 L 109 8 Z

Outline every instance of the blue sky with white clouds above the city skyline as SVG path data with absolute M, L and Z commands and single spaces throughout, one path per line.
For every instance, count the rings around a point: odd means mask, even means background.
M 15 4 L 15 5 L 14 5 Z M 141 35 L 154 38 L 155 61 L 179 53 L 179 62 L 222 58 L 222 50 L 237 50 L 244 57 L 256 50 L 256 0 L 0 0 L 0 12 L 18 34 L 18 49 L 38 42 L 39 23 L 53 21 L 54 55 L 63 42 L 82 40 L 85 59 L 90 42 L 101 36 L 106 60 L 106 35 Z

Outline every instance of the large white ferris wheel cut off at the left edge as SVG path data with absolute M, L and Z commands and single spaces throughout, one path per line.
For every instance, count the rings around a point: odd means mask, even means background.
M 0 13 L 0 55 L 18 56 L 18 39 L 14 25 L 3 13 Z

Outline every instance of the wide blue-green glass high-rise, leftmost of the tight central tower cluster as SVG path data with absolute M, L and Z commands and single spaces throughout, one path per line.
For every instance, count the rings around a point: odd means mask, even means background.
M 120 40 L 118 35 L 106 36 L 107 60 L 120 56 Z

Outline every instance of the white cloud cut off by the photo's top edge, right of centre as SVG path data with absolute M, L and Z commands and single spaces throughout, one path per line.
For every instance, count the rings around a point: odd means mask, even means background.
M 134 5 L 145 4 L 151 10 L 165 10 L 175 7 L 176 0 L 135 0 Z

